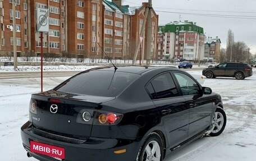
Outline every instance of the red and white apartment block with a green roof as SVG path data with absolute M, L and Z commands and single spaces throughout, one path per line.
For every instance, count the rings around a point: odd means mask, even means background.
M 204 30 L 194 22 L 174 21 L 158 26 L 157 58 L 203 60 Z

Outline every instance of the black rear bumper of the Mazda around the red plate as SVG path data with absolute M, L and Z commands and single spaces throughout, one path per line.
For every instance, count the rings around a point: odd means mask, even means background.
M 82 144 L 72 144 L 70 142 L 48 139 L 31 132 L 30 122 L 21 127 L 21 139 L 23 146 L 28 153 L 39 160 L 57 160 L 47 155 L 33 153 L 30 151 L 30 141 L 41 142 L 43 144 L 58 146 L 65 149 L 65 159 L 63 161 L 84 161 L 84 160 L 136 160 L 136 156 L 141 145 L 141 141 L 90 138 Z M 125 143 L 124 143 L 125 142 Z M 126 149 L 125 153 L 115 154 L 114 151 Z

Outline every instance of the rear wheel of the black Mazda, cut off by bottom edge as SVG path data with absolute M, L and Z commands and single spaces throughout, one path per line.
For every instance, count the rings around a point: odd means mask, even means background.
M 155 150 L 152 151 L 152 149 Z M 156 132 L 152 132 L 148 135 L 147 139 L 144 141 L 139 150 L 136 161 L 144 160 L 163 160 L 163 142 L 161 137 Z

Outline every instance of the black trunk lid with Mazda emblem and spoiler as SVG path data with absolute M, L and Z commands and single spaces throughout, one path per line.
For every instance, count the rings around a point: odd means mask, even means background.
M 92 131 L 94 115 L 101 108 L 100 104 L 111 99 L 54 90 L 33 94 L 31 121 L 34 127 L 54 135 L 87 139 Z

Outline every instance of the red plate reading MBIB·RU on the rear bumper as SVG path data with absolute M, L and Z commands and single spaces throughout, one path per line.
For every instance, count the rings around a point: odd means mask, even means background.
M 65 149 L 58 146 L 30 141 L 30 151 L 34 153 L 48 155 L 49 157 L 53 157 L 58 160 L 65 159 Z

